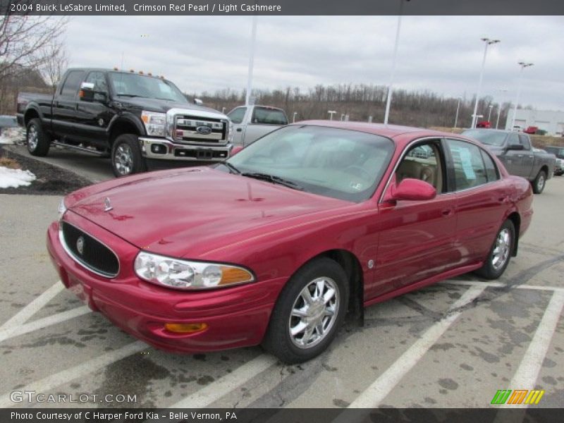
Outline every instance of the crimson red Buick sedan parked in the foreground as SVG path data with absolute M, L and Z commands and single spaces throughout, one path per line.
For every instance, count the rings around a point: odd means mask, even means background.
M 532 192 L 459 135 L 308 121 L 215 168 L 83 188 L 59 211 L 47 247 L 61 281 L 128 333 L 185 353 L 262 343 L 302 362 L 347 312 L 501 276 Z

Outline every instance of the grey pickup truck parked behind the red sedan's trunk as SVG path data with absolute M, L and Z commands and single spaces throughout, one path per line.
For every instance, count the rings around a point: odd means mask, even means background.
M 552 178 L 556 159 L 552 154 L 534 152 L 529 135 L 501 129 L 467 129 L 462 132 L 485 144 L 500 159 L 511 175 L 522 176 L 540 194 Z

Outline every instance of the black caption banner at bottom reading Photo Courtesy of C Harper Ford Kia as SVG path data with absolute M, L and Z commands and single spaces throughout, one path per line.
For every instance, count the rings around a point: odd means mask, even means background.
M 1 423 L 552 423 L 558 408 L 0 409 Z

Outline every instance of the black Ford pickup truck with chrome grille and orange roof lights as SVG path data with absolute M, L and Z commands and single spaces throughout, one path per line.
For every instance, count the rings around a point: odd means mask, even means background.
M 189 102 L 162 77 L 133 71 L 68 69 L 52 97 L 18 94 L 17 118 L 31 154 L 58 145 L 110 155 L 116 176 L 164 161 L 223 161 L 233 147 L 226 115 Z

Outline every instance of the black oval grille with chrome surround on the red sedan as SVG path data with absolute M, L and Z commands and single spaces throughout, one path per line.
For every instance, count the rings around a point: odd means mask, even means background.
M 61 221 L 61 243 L 73 259 L 87 269 L 106 278 L 118 274 L 118 257 L 106 245 L 80 229 Z

